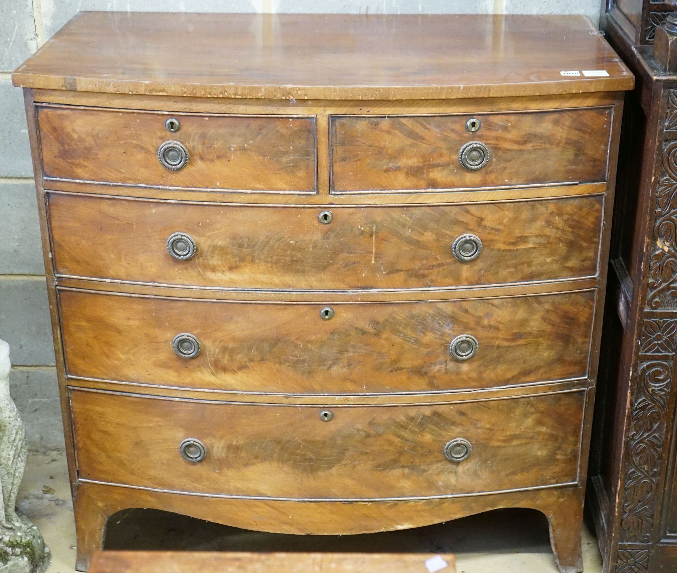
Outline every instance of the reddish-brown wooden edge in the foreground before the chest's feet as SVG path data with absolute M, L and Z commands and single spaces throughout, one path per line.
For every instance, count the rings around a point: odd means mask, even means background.
M 443 573 L 456 573 L 443 553 L 247 553 L 243 551 L 100 551 L 90 573 L 429 573 L 441 557 Z

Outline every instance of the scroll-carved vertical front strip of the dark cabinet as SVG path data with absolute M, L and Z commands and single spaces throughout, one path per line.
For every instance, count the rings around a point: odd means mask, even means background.
M 650 573 L 659 524 L 661 478 L 670 436 L 670 397 L 677 364 L 677 90 L 663 100 L 663 130 L 653 193 L 649 276 L 638 357 L 633 369 L 630 419 L 615 573 Z

